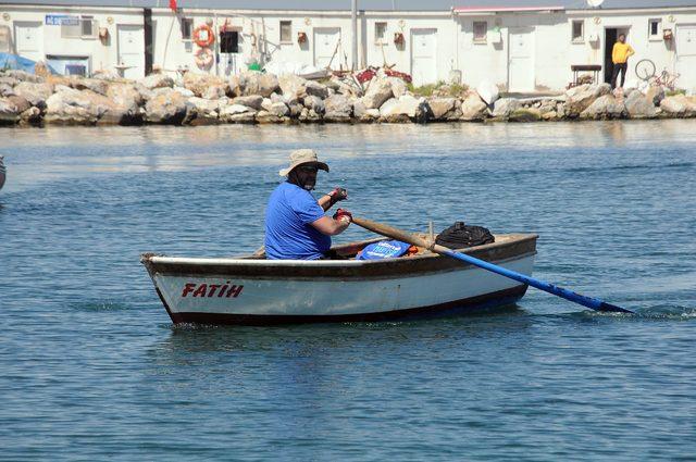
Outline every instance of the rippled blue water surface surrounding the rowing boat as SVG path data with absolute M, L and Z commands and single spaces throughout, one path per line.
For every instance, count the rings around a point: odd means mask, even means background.
M 2 460 L 696 459 L 696 121 L 0 138 Z M 139 254 L 254 250 L 300 147 L 356 214 L 538 233 L 535 276 L 638 314 L 173 326 Z

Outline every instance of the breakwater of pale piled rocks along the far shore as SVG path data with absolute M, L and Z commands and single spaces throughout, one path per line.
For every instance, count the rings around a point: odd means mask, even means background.
M 442 90 L 442 89 L 440 89 Z M 3 125 L 208 125 L 279 123 L 536 122 L 694 117 L 696 98 L 666 96 L 661 87 L 611 91 L 581 85 L 554 97 L 496 98 L 475 90 L 421 96 L 397 77 L 359 86 L 338 77 L 247 72 L 229 79 L 153 74 L 140 80 L 0 72 Z

